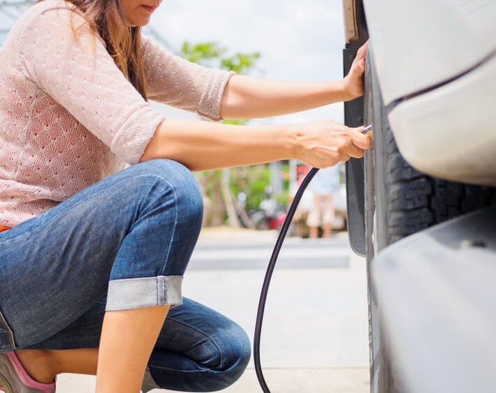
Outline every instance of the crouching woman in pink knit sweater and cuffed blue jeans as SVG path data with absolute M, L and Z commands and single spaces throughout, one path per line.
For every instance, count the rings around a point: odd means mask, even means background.
M 159 0 L 43 0 L 0 51 L 0 385 L 54 392 L 221 390 L 250 357 L 239 325 L 182 297 L 203 219 L 194 170 L 370 147 L 333 121 L 235 126 L 363 94 L 365 47 L 340 82 L 205 68 L 140 27 Z M 148 99 L 212 121 L 165 119 Z M 128 163 L 129 168 L 124 169 Z

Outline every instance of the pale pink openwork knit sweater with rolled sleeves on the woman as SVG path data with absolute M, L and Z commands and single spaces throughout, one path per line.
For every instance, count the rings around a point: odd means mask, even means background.
M 139 162 L 163 121 L 64 0 L 36 3 L 0 49 L 0 225 L 38 216 Z M 73 14 L 78 44 L 69 25 Z M 219 121 L 234 71 L 191 63 L 143 36 L 149 100 Z

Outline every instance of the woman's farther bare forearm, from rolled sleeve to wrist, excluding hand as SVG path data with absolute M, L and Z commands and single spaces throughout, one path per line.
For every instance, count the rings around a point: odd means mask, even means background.
M 353 97 L 339 82 L 297 82 L 233 75 L 221 103 L 222 119 L 258 119 L 321 107 Z

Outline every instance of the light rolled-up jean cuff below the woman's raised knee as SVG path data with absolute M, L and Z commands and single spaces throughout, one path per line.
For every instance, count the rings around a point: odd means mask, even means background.
M 105 311 L 182 304 L 183 276 L 154 276 L 108 281 Z

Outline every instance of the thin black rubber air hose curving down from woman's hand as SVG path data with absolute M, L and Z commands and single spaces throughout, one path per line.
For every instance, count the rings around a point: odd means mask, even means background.
M 300 203 L 300 199 L 307 188 L 310 180 L 315 176 L 316 172 L 319 171 L 319 168 L 312 168 L 303 179 L 298 191 L 296 191 L 295 198 L 293 202 L 291 202 L 291 206 L 289 207 L 288 214 L 284 223 L 282 224 L 281 232 L 279 232 L 279 237 L 277 237 L 277 242 L 274 246 L 274 251 L 272 251 L 272 256 L 270 257 L 270 262 L 267 267 L 267 272 L 265 272 L 265 279 L 263 280 L 262 292 L 260 294 L 260 300 L 258 301 L 258 311 L 256 313 L 256 324 L 255 324 L 255 337 L 253 343 L 253 353 L 254 353 L 254 362 L 255 362 L 255 372 L 256 378 L 258 378 L 258 383 L 264 393 L 270 393 L 270 390 L 265 383 L 265 378 L 263 378 L 262 366 L 260 363 L 260 335 L 262 332 L 262 322 L 263 322 L 263 310 L 265 309 L 265 300 L 267 299 L 267 292 L 270 286 L 270 279 L 272 277 L 272 272 L 274 272 L 275 264 L 277 262 L 277 256 L 279 255 L 279 251 L 281 251 L 282 242 L 284 242 L 284 238 L 286 237 L 286 233 L 288 232 L 289 225 L 291 224 L 291 220 L 295 215 L 296 208 L 298 207 L 298 203 Z

